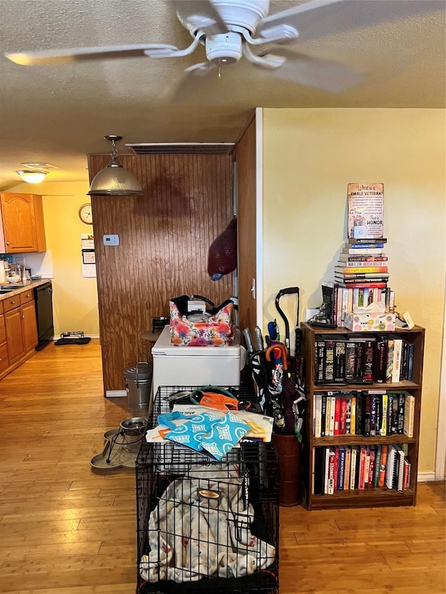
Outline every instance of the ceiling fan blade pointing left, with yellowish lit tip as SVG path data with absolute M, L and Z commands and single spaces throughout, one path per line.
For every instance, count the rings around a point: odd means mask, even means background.
M 47 49 L 43 52 L 20 52 L 5 54 L 6 58 L 24 66 L 62 64 L 87 60 L 111 58 L 134 58 L 137 56 L 169 56 L 178 51 L 174 45 L 164 43 L 141 43 L 139 45 L 109 45 L 104 47 L 74 47 L 70 49 Z

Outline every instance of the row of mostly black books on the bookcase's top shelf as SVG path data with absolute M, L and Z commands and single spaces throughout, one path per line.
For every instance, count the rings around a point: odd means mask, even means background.
M 367 338 L 318 334 L 314 341 L 316 384 L 394 384 L 412 381 L 414 345 L 397 334 Z

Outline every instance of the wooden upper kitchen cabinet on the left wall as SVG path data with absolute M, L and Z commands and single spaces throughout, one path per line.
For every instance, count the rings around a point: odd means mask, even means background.
M 42 196 L 1 192 L 0 205 L 5 253 L 45 251 L 47 249 Z

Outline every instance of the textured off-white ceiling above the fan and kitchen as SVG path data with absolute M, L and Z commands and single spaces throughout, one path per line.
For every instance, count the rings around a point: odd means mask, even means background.
M 368 0 L 364 0 L 367 2 Z M 412 0 L 406 0 L 412 1 Z M 300 1 L 272 0 L 270 14 Z M 47 180 L 85 180 L 86 155 L 125 142 L 236 141 L 255 107 L 445 107 L 443 11 L 291 45 L 351 66 L 364 78 L 341 93 L 282 81 L 244 58 L 206 77 L 184 69 L 205 59 L 145 57 L 20 66 L 3 53 L 191 38 L 162 0 L 0 0 L 0 189 L 20 163 L 58 167 Z

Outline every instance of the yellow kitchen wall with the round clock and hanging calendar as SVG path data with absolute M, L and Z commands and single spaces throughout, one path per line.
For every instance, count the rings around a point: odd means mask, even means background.
M 12 191 L 12 190 L 9 190 Z M 79 219 L 79 207 L 90 202 L 89 182 L 43 182 L 17 184 L 15 192 L 43 196 L 43 217 L 47 240 L 45 271 L 52 269 L 54 335 L 84 331 L 99 335 L 98 288 L 95 278 L 82 276 L 81 233 L 92 233 L 91 225 Z M 38 255 L 25 261 L 38 260 Z M 33 271 L 34 272 L 34 271 Z

